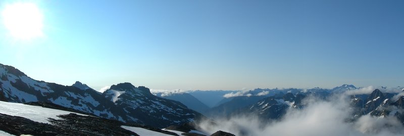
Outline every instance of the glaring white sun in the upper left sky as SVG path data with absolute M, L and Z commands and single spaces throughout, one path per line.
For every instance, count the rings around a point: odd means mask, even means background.
M 2 12 L 2 20 L 14 38 L 26 40 L 43 35 L 43 16 L 33 3 L 7 5 Z

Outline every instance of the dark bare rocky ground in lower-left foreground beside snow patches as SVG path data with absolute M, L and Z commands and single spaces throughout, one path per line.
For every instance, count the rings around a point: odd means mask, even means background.
M 60 115 L 59 117 L 61 119 L 49 118 L 49 122 L 52 124 L 47 124 L 35 122 L 24 117 L 0 113 L 0 128 L 14 135 L 138 135 L 121 127 L 122 125 L 126 125 L 177 135 L 170 131 L 148 126 L 122 123 L 100 117 L 81 116 L 74 113 Z

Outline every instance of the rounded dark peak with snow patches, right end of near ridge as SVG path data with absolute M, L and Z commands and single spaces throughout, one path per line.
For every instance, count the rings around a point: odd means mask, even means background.
M 123 109 L 120 120 L 157 127 L 167 124 L 180 124 L 203 117 L 200 113 L 188 109 L 180 102 L 157 97 L 146 87 L 135 87 L 130 83 L 113 85 L 103 93 L 103 97 Z M 136 116 L 133 116 L 136 115 Z

